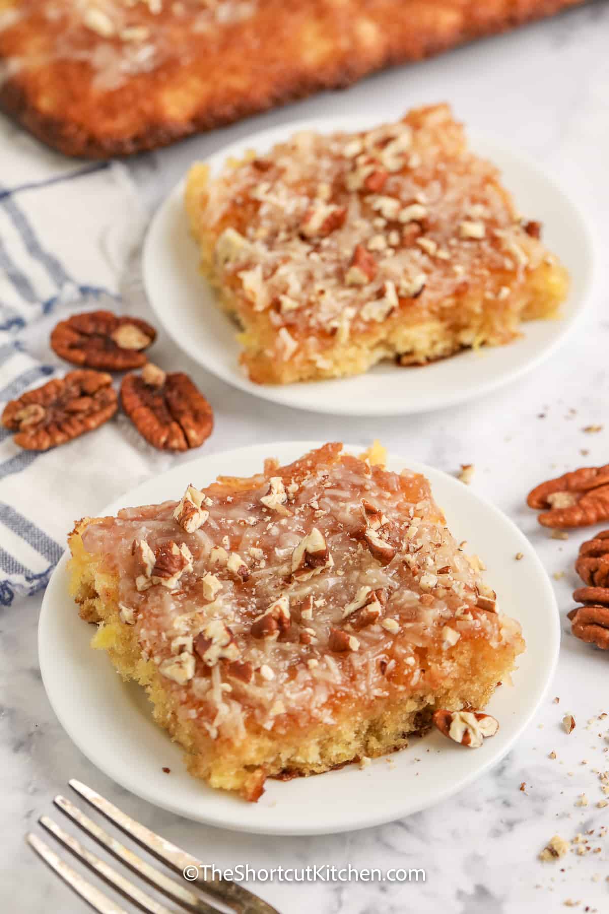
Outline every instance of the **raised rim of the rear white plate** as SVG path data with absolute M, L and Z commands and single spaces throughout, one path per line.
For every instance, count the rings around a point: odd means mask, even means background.
M 226 143 L 221 146 L 215 152 L 203 157 L 203 158 L 194 158 L 188 167 L 194 165 L 195 163 L 202 163 L 209 165 L 209 167 L 214 170 L 219 165 L 226 160 L 230 155 L 238 154 L 247 149 L 249 143 L 252 145 L 259 145 L 260 148 L 264 148 L 264 143 L 277 143 L 280 142 L 281 136 L 285 139 L 286 136 L 290 135 L 299 130 L 318 130 L 320 132 L 329 132 L 329 131 L 340 131 L 340 130 L 361 130 L 366 127 L 372 126 L 374 123 L 378 123 L 378 117 L 371 115 L 343 115 L 339 118 L 331 117 L 320 117 L 320 118 L 306 118 L 306 119 L 297 119 L 294 121 L 288 121 L 280 124 L 276 124 L 272 127 L 264 128 L 255 133 L 247 133 L 246 135 L 236 139 L 231 143 Z M 562 199 L 563 203 L 570 210 L 570 223 L 573 226 L 573 233 L 578 235 L 582 240 L 582 251 L 583 251 L 583 282 L 581 283 L 582 288 L 580 293 L 576 296 L 575 301 L 572 303 L 572 310 L 570 314 L 564 314 L 560 321 L 556 323 L 560 325 L 560 332 L 551 339 L 550 342 L 540 345 L 535 353 L 533 353 L 524 361 L 520 361 L 519 364 L 505 368 L 501 373 L 496 377 L 491 377 L 483 379 L 482 383 L 476 386 L 476 389 L 470 390 L 460 390 L 458 386 L 444 391 L 442 402 L 439 402 L 437 399 L 428 403 L 423 401 L 421 405 L 418 405 L 416 402 L 411 402 L 410 405 L 404 409 L 399 403 L 387 403 L 383 405 L 383 402 L 379 403 L 378 400 L 374 402 L 374 405 L 369 405 L 366 409 L 362 409 L 360 405 L 361 400 L 353 398 L 348 400 L 346 403 L 342 402 L 340 405 L 333 402 L 333 399 L 328 399 L 328 405 L 326 398 L 324 397 L 324 392 L 328 388 L 320 390 L 316 394 L 312 394 L 311 397 L 303 401 L 294 401 L 289 397 L 285 397 L 283 392 L 289 390 L 290 385 L 264 385 L 264 384 L 255 384 L 250 381 L 249 378 L 243 373 L 241 367 L 236 363 L 235 367 L 230 370 L 226 369 L 223 365 L 215 363 L 209 365 L 205 362 L 205 354 L 202 357 L 200 352 L 197 350 L 195 345 L 190 345 L 188 339 L 181 339 L 179 334 L 174 331 L 173 324 L 170 320 L 167 319 L 167 315 L 163 311 L 163 308 L 160 307 L 160 303 L 157 301 L 154 294 L 154 283 L 150 281 L 150 271 L 153 270 L 152 261 L 154 258 L 154 251 L 159 250 L 155 246 L 155 241 L 157 235 L 162 232 L 163 222 L 171 215 L 171 208 L 175 206 L 176 202 L 184 197 L 184 186 L 186 183 L 186 175 L 180 178 L 179 181 L 172 187 L 172 189 L 163 197 L 162 202 L 154 211 L 148 228 L 146 229 L 145 237 L 142 244 L 142 282 L 144 286 L 144 291 L 148 298 L 148 302 L 151 305 L 152 311 L 155 314 L 156 318 L 159 320 L 160 324 L 163 326 L 164 332 L 172 339 L 173 343 L 183 351 L 187 356 L 192 358 L 194 362 L 205 368 L 206 371 L 209 371 L 215 377 L 218 377 L 220 380 L 224 381 L 226 384 L 229 384 L 231 387 L 242 390 L 245 393 L 250 394 L 252 397 L 257 397 L 258 399 L 266 400 L 270 403 L 277 403 L 279 406 L 282 406 L 287 409 L 300 409 L 313 413 L 320 413 L 322 415 L 343 415 L 343 416 L 405 416 L 405 415 L 417 415 L 420 413 L 433 412 L 439 409 L 450 409 L 462 403 L 467 403 L 470 400 L 479 399 L 488 394 L 491 394 L 495 390 L 502 388 L 512 381 L 517 381 L 521 377 L 524 377 L 530 371 L 535 370 L 535 368 L 540 367 L 541 364 L 547 359 L 554 356 L 556 352 L 561 348 L 565 343 L 566 339 L 570 334 L 572 334 L 577 326 L 583 320 L 586 312 L 588 311 L 589 305 L 591 303 L 591 292 L 594 286 L 594 275 L 597 271 L 597 245 L 593 237 L 592 228 L 589 225 L 589 220 L 585 217 L 583 208 L 579 203 L 572 197 L 567 190 L 565 190 L 557 177 L 552 174 L 547 174 L 541 169 L 541 166 L 533 159 L 530 154 L 522 152 L 520 149 L 512 147 L 509 143 L 503 143 L 501 138 L 492 133 L 486 133 L 484 131 L 479 131 L 475 127 L 467 129 L 467 141 L 472 148 L 476 148 L 476 143 L 485 143 L 488 146 L 488 149 L 491 150 L 489 158 L 494 158 L 495 152 L 497 154 L 503 154 L 505 157 L 509 158 L 511 161 L 524 167 L 530 174 L 541 177 L 541 180 L 545 182 L 546 186 L 551 187 L 553 192 L 557 195 L 557 198 Z M 487 155 L 487 154 L 485 154 Z M 181 207 L 184 213 L 184 206 Z M 195 243 L 195 242 L 194 242 Z M 202 284 L 205 284 L 205 277 L 200 275 Z M 209 286 L 209 283 L 207 283 Z M 213 292 L 213 290 L 212 290 Z M 570 292 L 572 295 L 572 292 Z M 570 302 L 568 297 L 566 303 Z M 530 322 L 535 323 L 535 322 Z M 523 329 L 523 335 L 526 335 L 526 324 Z M 518 340 L 514 340 L 512 344 L 508 345 L 518 345 Z M 465 355 L 467 355 L 466 353 Z M 488 354 L 488 350 L 485 350 L 485 355 Z M 457 354 L 458 355 L 458 354 Z M 364 377 L 367 373 L 362 373 L 362 376 L 354 377 Z M 341 380 L 349 380 L 349 378 L 332 378 L 329 381 L 320 381 L 320 382 L 309 382 L 310 384 L 333 384 L 340 382 Z M 308 382 L 296 382 L 294 388 L 302 390 L 306 387 Z

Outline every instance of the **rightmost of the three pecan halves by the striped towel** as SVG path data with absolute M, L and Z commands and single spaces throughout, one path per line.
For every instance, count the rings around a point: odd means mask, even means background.
M 212 433 L 214 413 L 188 375 L 165 375 L 148 364 L 141 375 L 125 375 L 122 408 L 140 434 L 161 451 L 198 448 Z

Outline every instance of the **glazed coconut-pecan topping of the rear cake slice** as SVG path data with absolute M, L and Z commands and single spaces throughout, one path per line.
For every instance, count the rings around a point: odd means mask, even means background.
M 504 308 L 547 256 L 446 105 L 367 133 L 296 133 L 205 194 L 222 281 L 269 314 L 284 359 L 398 309 L 446 317 L 468 289 Z

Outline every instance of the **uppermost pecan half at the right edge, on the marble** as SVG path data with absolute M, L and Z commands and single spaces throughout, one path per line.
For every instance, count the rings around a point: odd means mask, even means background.
M 542 526 L 590 526 L 609 520 L 609 464 L 587 466 L 537 485 L 527 497 L 531 508 L 550 508 Z

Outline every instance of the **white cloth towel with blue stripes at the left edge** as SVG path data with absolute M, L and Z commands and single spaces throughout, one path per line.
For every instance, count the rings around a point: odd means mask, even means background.
M 146 316 L 142 227 L 123 165 L 75 164 L 0 122 L 0 410 L 70 370 L 48 345 L 61 318 L 95 307 Z M 44 453 L 0 429 L 0 602 L 43 588 L 74 520 L 169 460 L 122 416 Z

